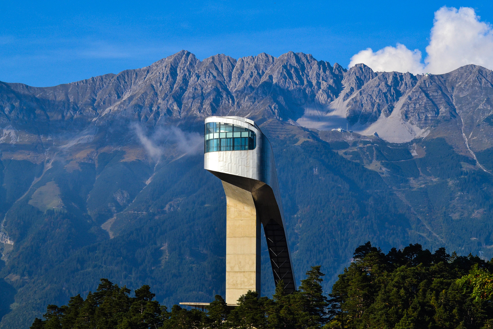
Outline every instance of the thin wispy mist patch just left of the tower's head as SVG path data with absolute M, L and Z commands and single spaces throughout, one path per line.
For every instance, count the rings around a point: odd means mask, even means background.
M 177 127 L 168 126 L 158 127 L 151 134 L 146 134 L 139 124 L 132 125 L 132 129 L 154 161 L 158 161 L 164 154 L 164 146 L 174 147 L 179 152 L 190 155 L 203 151 L 204 137 L 196 132 L 184 132 Z

